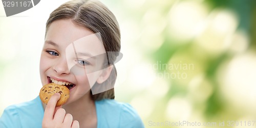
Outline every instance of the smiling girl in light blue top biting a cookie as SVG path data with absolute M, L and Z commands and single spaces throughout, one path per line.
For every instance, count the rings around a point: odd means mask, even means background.
M 118 23 L 108 8 L 93 0 L 61 5 L 46 24 L 40 78 L 42 85 L 67 86 L 70 98 L 60 107 L 59 93 L 47 105 L 37 96 L 10 106 L 0 127 L 144 127 L 129 104 L 114 100 L 119 52 Z

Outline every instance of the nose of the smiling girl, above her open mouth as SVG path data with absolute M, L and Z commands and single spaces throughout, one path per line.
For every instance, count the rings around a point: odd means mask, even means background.
M 53 70 L 58 74 L 69 74 L 69 68 L 66 58 L 60 58 L 56 61 L 56 64 L 53 66 Z

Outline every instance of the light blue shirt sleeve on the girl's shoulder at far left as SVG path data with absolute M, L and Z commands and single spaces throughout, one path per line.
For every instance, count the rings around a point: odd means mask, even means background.
M 0 127 L 1 128 L 14 128 L 20 127 L 20 119 L 18 117 L 18 112 L 14 106 L 8 107 L 4 110 L 4 113 L 0 117 Z

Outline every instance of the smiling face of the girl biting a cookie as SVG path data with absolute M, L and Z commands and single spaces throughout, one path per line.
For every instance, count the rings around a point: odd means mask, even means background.
M 67 86 L 70 98 L 66 104 L 88 94 L 95 82 L 106 80 L 104 71 L 97 70 L 104 63 L 104 59 L 97 58 L 104 55 L 104 46 L 95 37 L 71 19 L 56 20 L 47 30 L 40 59 L 41 82 Z

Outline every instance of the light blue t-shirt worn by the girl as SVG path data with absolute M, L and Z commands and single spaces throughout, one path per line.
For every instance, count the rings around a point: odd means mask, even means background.
M 114 99 L 95 101 L 97 128 L 143 128 L 137 112 L 129 104 Z M 39 96 L 26 103 L 12 105 L 5 109 L 0 118 L 1 128 L 37 128 L 42 127 L 44 108 Z

